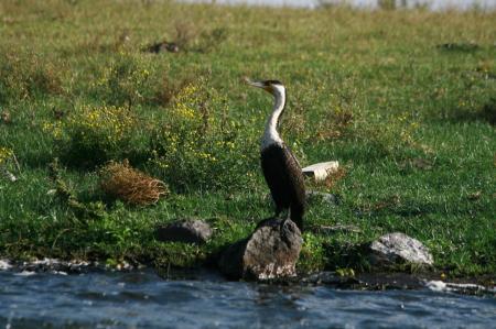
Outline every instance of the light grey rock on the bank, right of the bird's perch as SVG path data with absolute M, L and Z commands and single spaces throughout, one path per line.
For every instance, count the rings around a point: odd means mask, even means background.
M 389 233 L 369 245 L 369 262 L 374 267 L 389 267 L 399 264 L 432 265 L 429 250 L 417 239 L 403 233 Z

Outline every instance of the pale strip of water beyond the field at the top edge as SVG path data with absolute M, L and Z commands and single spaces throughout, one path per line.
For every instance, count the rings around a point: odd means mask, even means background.
M 289 6 L 303 8 L 319 8 L 322 4 L 347 3 L 358 8 L 374 9 L 379 3 L 391 0 L 180 0 L 182 2 L 208 2 L 222 4 L 255 4 L 255 6 Z M 496 0 L 392 0 L 398 8 L 425 7 L 431 10 L 496 10 Z

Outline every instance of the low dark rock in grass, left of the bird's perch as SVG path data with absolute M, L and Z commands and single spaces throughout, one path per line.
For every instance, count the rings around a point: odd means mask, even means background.
M 177 220 L 157 229 L 157 239 L 163 242 L 205 243 L 212 237 L 211 226 L 203 220 Z

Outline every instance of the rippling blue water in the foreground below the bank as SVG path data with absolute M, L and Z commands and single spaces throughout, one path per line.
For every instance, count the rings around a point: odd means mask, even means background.
M 495 328 L 495 297 L 0 272 L 0 328 Z

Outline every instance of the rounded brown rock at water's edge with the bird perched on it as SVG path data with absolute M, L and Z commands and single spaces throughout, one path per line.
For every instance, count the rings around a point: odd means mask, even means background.
M 231 278 L 273 279 L 296 275 L 303 239 L 291 220 L 268 219 L 247 239 L 228 246 L 220 255 L 220 272 Z

